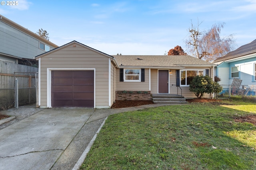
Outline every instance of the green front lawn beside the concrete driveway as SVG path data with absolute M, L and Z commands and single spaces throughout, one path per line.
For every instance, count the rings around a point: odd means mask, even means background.
M 256 126 L 233 118 L 255 111 L 255 103 L 225 100 L 111 115 L 81 169 L 253 170 Z

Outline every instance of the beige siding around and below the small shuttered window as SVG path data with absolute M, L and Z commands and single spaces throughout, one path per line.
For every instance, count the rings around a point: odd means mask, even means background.
M 149 69 L 145 69 L 145 82 L 120 82 L 120 69 L 116 70 L 116 90 L 148 91 Z

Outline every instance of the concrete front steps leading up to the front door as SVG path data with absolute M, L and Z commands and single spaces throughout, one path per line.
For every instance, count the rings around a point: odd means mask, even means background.
M 186 104 L 184 96 L 177 94 L 152 94 L 152 99 L 155 104 Z

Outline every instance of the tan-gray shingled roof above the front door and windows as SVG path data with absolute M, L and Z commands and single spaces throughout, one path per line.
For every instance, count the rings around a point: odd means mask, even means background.
M 112 55 L 120 66 L 158 66 L 158 67 L 179 67 L 179 66 L 211 66 L 214 65 L 204 60 L 197 59 L 190 55 Z

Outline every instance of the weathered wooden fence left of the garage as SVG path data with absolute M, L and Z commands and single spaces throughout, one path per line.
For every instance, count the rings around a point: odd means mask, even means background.
M 35 89 L 35 72 L 38 72 L 38 68 L 36 67 L 0 61 L 0 109 L 14 106 L 14 78 L 18 79 L 18 88 Z M 35 91 L 32 90 L 32 93 L 34 93 L 32 94 L 33 96 L 36 95 Z M 23 94 L 28 93 L 24 91 Z M 30 96 L 23 94 L 19 95 L 21 97 L 19 100 L 27 101 L 26 98 L 30 98 Z

